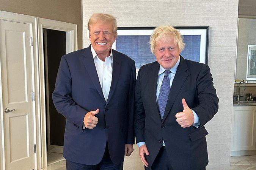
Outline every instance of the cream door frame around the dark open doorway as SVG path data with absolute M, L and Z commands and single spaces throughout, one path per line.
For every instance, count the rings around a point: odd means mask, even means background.
M 66 32 L 66 51 L 67 54 L 72 51 L 77 50 L 77 25 L 72 23 L 60 22 L 50 19 L 44 19 L 38 17 L 38 45 L 39 45 L 39 89 L 40 89 L 40 129 L 37 129 L 38 138 L 40 139 L 39 144 L 37 145 L 38 150 L 40 150 L 40 156 L 37 157 L 38 162 L 40 162 L 39 167 L 44 168 L 47 166 L 47 141 L 46 141 L 46 114 L 49 118 L 49 103 L 46 102 L 45 92 L 45 83 L 44 78 L 47 77 L 47 73 L 44 72 L 45 65 L 44 63 L 44 42 L 43 42 L 43 28 L 53 29 L 58 31 Z M 47 68 L 46 68 L 47 69 Z M 48 96 L 48 95 L 47 95 Z M 49 97 L 49 96 L 48 96 Z M 47 98 L 48 98 L 47 97 Z M 48 101 L 48 100 L 47 100 Z M 48 105 L 46 110 L 46 105 Z M 49 128 L 48 128 L 49 129 Z M 40 133 L 39 133 L 40 132 Z M 48 140 L 50 140 L 48 136 Z

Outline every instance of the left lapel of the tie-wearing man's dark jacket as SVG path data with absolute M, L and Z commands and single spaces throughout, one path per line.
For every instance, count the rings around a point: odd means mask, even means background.
M 151 106 L 153 106 L 153 113 L 158 113 L 159 119 L 161 120 L 161 116 L 159 114 L 157 102 L 156 102 L 156 88 L 157 88 L 157 79 L 158 79 L 158 71 L 159 71 L 159 63 L 156 61 L 151 67 L 151 70 L 148 72 L 148 90 L 149 93 L 149 102 L 151 102 Z

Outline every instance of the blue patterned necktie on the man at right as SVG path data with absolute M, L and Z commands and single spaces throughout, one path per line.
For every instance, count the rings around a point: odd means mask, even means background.
M 168 75 L 171 73 L 170 70 L 165 70 L 165 77 L 163 77 L 163 82 L 160 88 L 160 93 L 158 97 L 158 107 L 161 119 L 163 119 L 163 114 L 165 114 L 165 107 L 167 104 L 168 96 L 170 93 L 170 79 Z

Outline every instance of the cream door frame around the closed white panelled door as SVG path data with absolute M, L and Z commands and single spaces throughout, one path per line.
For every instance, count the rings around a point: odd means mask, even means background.
M 19 22 L 30 25 L 30 35 L 33 37 L 33 48 L 31 49 L 32 65 L 32 89 L 35 92 L 35 101 L 33 101 L 33 129 L 34 144 L 37 144 L 37 122 L 39 121 L 39 83 L 38 83 L 38 48 L 37 48 L 37 21 L 36 17 L 30 15 L 16 14 L 13 12 L 0 11 L 0 20 Z M 1 50 L 1 49 L 0 49 Z M 1 64 L 0 64 L 1 68 Z M 0 75 L 1 69 L 0 69 Z M 2 89 L 2 79 L 0 76 L 0 89 Z M 5 169 L 5 148 L 4 148 L 4 129 L 3 129 L 3 100 L 2 90 L 0 91 L 0 170 Z M 35 169 L 37 169 L 38 152 L 35 154 Z

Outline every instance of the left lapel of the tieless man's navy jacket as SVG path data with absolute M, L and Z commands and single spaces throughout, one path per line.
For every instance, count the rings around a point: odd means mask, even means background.
M 82 61 L 83 65 L 85 66 L 85 69 L 88 72 L 88 74 L 93 82 L 94 87 L 97 89 L 99 95 L 105 102 L 105 98 L 102 93 L 101 84 L 99 82 L 97 70 L 96 70 L 96 67 L 94 64 L 93 54 L 91 53 L 91 45 L 85 49 L 85 52 L 83 53 L 83 56 L 80 57 L 80 60 Z

